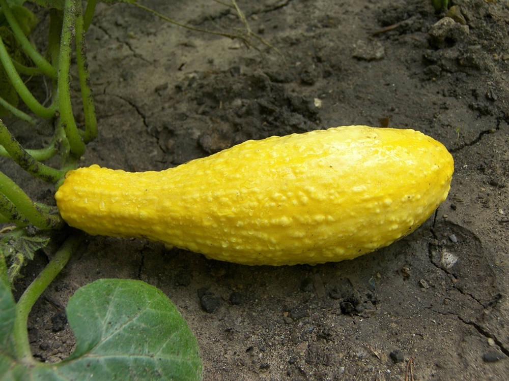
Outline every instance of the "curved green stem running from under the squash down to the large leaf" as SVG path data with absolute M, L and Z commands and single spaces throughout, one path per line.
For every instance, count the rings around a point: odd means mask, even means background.
M 30 310 L 36 300 L 41 296 L 49 283 L 60 273 L 69 261 L 72 253 L 76 250 L 82 240 L 81 233 L 69 236 L 62 244 L 55 256 L 49 261 L 41 273 L 27 287 L 16 304 L 16 320 L 14 321 L 13 338 L 15 343 L 16 357 L 25 364 L 35 362 L 30 350 L 30 342 L 27 331 L 27 322 Z

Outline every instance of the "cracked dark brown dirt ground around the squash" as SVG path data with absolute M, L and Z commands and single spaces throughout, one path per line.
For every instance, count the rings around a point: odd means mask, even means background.
M 242 26 L 208 0 L 143 3 L 202 28 Z M 239 0 L 281 55 L 99 7 L 88 41 L 100 136 L 82 165 L 159 170 L 250 138 L 390 118 L 443 142 L 455 174 L 415 233 L 342 263 L 246 267 L 90 237 L 31 314 L 34 353 L 65 358 L 62 306 L 81 285 L 120 277 L 174 301 L 206 380 L 402 380 L 410 359 L 415 380 L 507 379 L 509 3 L 455 1 L 466 24 L 436 24 L 428 3 Z

